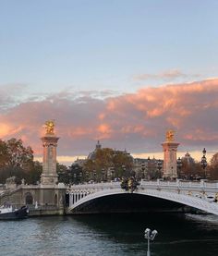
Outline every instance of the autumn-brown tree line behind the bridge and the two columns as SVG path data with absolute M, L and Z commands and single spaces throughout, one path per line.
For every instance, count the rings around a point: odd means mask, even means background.
M 67 167 L 57 163 L 59 182 L 66 184 L 94 181 L 106 181 L 122 177 L 135 177 L 133 157 L 127 152 L 115 151 L 110 148 L 98 149 L 94 158 L 87 159 L 83 165 L 72 164 Z M 152 179 L 160 177 L 156 165 L 148 170 Z M 33 151 L 30 146 L 25 147 L 22 140 L 12 138 L 0 140 L 0 183 L 4 184 L 6 178 L 16 177 L 21 183 L 24 178 L 28 184 L 37 184 L 42 174 L 42 163 L 33 160 Z M 139 176 L 140 177 L 140 176 Z M 142 177 L 142 176 L 141 176 Z M 188 163 L 182 159 L 178 177 L 184 179 L 217 179 L 218 180 L 218 152 L 212 157 L 206 169 L 200 163 Z

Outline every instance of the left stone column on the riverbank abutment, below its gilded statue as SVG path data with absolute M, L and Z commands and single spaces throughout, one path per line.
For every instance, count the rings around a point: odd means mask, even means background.
M 54 134 L 46 134 L 41 140 L 43 145 L 41 184 L 55 185 L 58 181 L 56 173 L 56 146 L 59 138 L 55 137 Z

